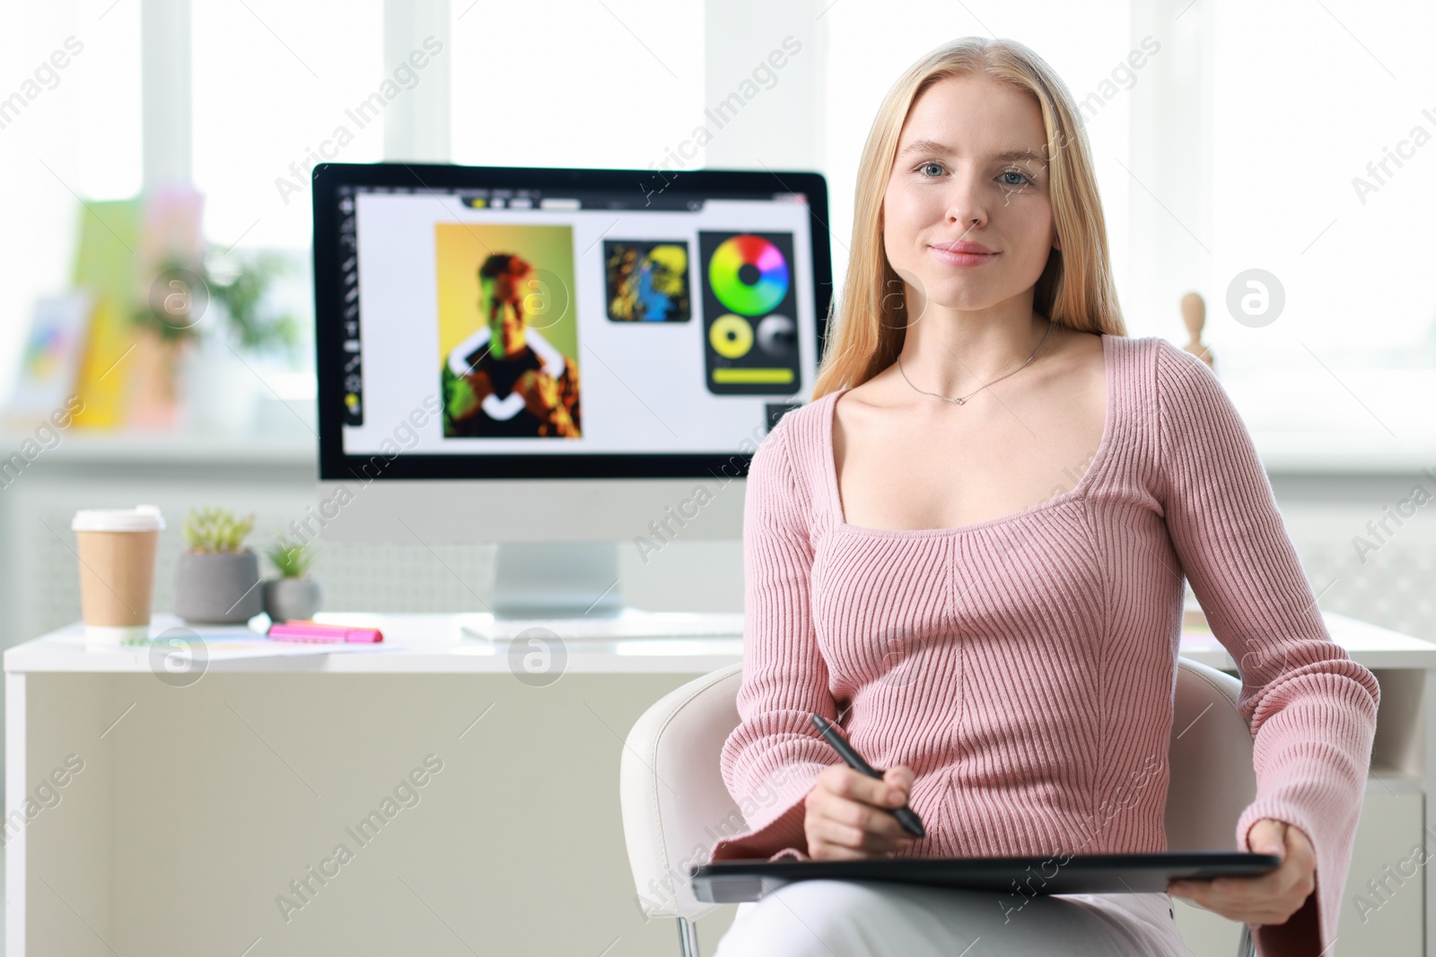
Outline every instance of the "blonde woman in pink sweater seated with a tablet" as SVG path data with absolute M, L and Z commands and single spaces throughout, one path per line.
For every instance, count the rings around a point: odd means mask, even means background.
M 1127 339 L 1061 80 L 1010 40 L 893 86 L 857 175 L 813 400 L 754 455 L 740 726 L 750 832 L 712 859 L 1166 848 L 1183 575 L 1241 663 L 1259 878 L 1169 887 L 1324 951 L 1380 690 L 1331 641 L 1251 438 L 1208 367 Z M 808 722 L 844 726 L 883 781 Z M 890 809 L 908 803 L 926 836 Z M 719 956 L 1183 954 L 1167 894 L 1025 898 L 804 881 Z

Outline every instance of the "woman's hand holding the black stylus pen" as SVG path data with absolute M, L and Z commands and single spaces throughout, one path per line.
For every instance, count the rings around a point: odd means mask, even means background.
M 831 765 L 806 798 L 803 831 L 814 861 L 856 861 L 893 857 L 916 835 L 903 831 L 895 808 L 908 803 L 913 773 L 906 765 L 883 772 L 882 781 Z

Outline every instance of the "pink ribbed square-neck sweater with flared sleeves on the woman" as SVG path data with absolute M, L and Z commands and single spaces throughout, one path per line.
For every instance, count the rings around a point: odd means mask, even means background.
M 1258 931 L 1259 953 L 1331 944 L 1380 689 L 1327 633 L 1212 372 L 1157 337 L 1103 336 L 1103 356 L 1107 420 L 1087 471 L 974 525 L 843 521 L 841 390 L 764 439 L 745 491 L 741 723 L 721 760 L 750 831 L 711 859 L 808 859 L 803 798 L 840 763 L 811 712 L 843 715 L 875 768 L 913 769 L 928 836 L 903 857 L 1166 849 L 1185 572 L 1242 663 L 1256 798 L 1234 847 L 1277 818 L 1317 855 L 1317 891 Z

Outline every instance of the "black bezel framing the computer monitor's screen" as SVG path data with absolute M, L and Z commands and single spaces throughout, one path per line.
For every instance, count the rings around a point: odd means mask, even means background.
M 645 197 L 675 188 L 709 197 L 801 192 L 807 198 L 813 237 L 813 303 L 817 356 L 827 347 L 833 301 L 833 258 L 827 228 L 827 182 L 817 172 L 747 169 L 572 169 L 543 166 L 465 166 L 457 164 L 335 164 L 313 169 L 314 369 L 319 400 L 319 478 L 360 479 L 672 479 L 747 475 L 751 451 L 732 453 L 564 453 L 564 455 L 437 455 L 401 452 L 346 455 L 343 451 L 343 323 L 339 284 L 339 189 L 342 187 L 411 187 L 471 189 L 635 189 Z M 378 461 L 378 462 L 376 462 Z M 376 465 L 379 468 L 376 468 Z

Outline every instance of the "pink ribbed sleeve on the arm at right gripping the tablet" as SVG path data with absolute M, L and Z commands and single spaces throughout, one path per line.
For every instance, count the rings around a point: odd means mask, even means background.
M 1259 957 L 1327 953 L 1366 795 L 1380 687 L 1331 640 L 1251 435 L 1206 364 L 1157 340 L 1157 498 L 1212 634 L 1238 663 L 1261 818 L 1300 828 L 1317 885 L 1284 924 L 1256 928 Z

